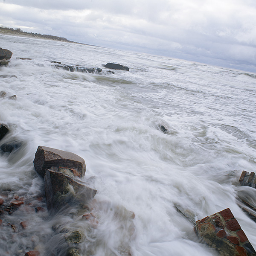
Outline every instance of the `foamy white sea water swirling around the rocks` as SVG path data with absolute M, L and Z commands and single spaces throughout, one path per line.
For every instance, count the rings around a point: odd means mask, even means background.
M 99 224 L 86 234 L 82 256 L 122 255 L 127 243 L 132 256 L 218 255 L 200 243 L 176 207 L 194 220 L 230 208 L 256 248 L 256 223 L 238 205 L 238 195 L 256 204 L 256 191 L 239 186 L 242 170 L 256 170 L 255 74 L 7 35 L 0 35 L 0 47 L 13 52 L 9 66 L 0 68 L 0 91 L 17 96 L 0 98 L 0 123 L 10 128 L 0 145 L 21 143 L 0 154 L 0 193 L 27 204 L 2 218 L 16 230 L 0 227 L 0 255 L 34 249 L 50 255 L 61 243 L 53 237 L 56 217 L 31 210 L 45 208 L 44 199 L 36 200 L 43 191 L 33 167 L 38 145 L 84 158 L 84 181 L 98 191 L 92 209 Z M 113 62 L 130 71 L 71 73 L 50 61 Z M 135 214 L 132 232 L 123 207 Z M 79 218 L 60 218 L 87 229 Z M 29 221 L 26 230 L 20 221 Z

